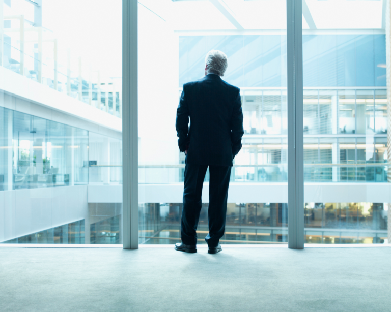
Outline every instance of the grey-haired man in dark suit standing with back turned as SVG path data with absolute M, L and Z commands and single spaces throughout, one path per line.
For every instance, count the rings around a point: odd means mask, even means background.
M 202 186 L 209 167 L 208 253 L 221 251 L 227 214 L 232 161 L 242 147 L 243 113 L 239 88 L 220 77 L 227 69 L 227 55 L 211 50 L 205 58 L 205 77 L 185 83 L 177 109 L 178 145 L 185 152 L 185 181 L 181 221 L 182 243 L 177 251 L 197 252 L 197 225 Z M 190 128 L 189 128 L 190 117 Z

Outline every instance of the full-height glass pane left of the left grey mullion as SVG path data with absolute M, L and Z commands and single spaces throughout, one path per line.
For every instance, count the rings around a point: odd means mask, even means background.
M 122 243 L 121 1 L 1 5 L 0 243 Z

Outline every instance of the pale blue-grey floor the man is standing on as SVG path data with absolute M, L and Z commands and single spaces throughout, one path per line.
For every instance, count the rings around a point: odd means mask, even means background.
M 376 247 L 0 248 L 0 311 L 389 312 L 390 262 Z

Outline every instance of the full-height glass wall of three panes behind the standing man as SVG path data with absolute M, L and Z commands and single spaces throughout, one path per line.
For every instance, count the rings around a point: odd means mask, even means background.
M 16 3 L 2 11 L 0 241 L 121 243 L 121 1 Z M 244 115 L 225 243 L 286 243 L 286 2 L 227 3 L 230 19 L 212 2 L 138 4 L 140 243 L 180 239 L 176 108 L 211 49 L 228 55 L 223 79 L 240 88 Z M 376 2 L 345 5 L 343 20 L 322 18 L 337 2 L 308 1 L 316 27 L 303 16 L 305 241 L 383 243 L 385 34 Z M 208 182 L 207 172 L 200 243 Z

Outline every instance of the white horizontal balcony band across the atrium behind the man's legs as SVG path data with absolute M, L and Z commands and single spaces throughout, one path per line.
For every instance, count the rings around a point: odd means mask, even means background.
M 204 183 L 202 201 L 209 201 L 209 183 Z M 89 203 L 122 202 L 121 185 L 89 185 Z M 388 183 L 305 183 L 304 202 L 383 203 L 391 200 L 391 185 Z M 183 184 L 140 184 L 140 203 L 181 203 Z M 286 203 L 286 183 L 231 183 L 229 203 Z

